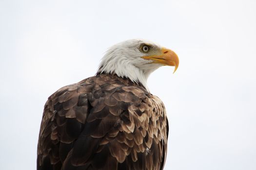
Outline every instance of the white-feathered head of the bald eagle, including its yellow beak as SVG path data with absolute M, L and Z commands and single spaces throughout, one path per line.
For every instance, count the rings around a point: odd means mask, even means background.
M 147 78 L 154 70 L 161 66 L 178 68 L 177 54 L 156 43 L 131 39 L 110 47 L 103 56 L 98 74 L 117 74 L 119 77 L 129 78 L 141 83 L 147 90 Z

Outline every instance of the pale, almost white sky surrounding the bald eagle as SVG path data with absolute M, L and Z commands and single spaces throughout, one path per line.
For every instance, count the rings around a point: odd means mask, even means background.
M 255 0 L 0 0 L 0 170 L 35 170 L 43 105 L 143 38 L 180 65 L 148 80 L 165 104 L 165 170 L 256 170 Z

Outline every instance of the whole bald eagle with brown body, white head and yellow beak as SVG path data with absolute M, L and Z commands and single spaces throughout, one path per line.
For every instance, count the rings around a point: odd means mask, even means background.
M 37 170 L 163 170 L 168 120 L 147 78 L 178 67 L 174 51 L 145 40 L 111 47 L 96 76 L 60 88 L 45 103 Z

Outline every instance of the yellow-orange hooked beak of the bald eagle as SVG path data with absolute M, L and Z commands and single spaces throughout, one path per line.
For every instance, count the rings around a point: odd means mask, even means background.
M 161 49 L 160 55 L 143 56 L 141 58 L 153 60 L 153 63 L 159 63 L 165 66 L 175 66 L 174 72 L 178 68 L 178 56 L 174 51 L 166 48 Z M 174 73 L 173 72 L 173 73 Z

